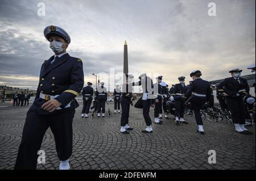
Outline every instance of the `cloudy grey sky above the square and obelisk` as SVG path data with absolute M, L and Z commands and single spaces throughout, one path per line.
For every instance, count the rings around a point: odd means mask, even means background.
M 38 15 L 38 3 L 46 15 Z M 92 73 L 108 82 L 110 69 L 122 73 L 127 40 L 129 71 L 162 74 L 169 85 L 200 69 L 204 79 L 229 76 L 255 62 L 255 0 L 218 0 L 216 16 L 207 0 L 0 0 L 0 85 L 36 89 L 44 60 L 52 56 L 46 26 L 71 36 L 68 53 L 84 64 L 85 82 Z M 104 75 L 105 74 L 105 75 Z M 118 83 L 112 81 L 114 85 Z

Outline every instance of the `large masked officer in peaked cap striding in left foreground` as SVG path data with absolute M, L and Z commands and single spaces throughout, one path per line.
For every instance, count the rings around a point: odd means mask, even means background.
M 71 39 L 62 28 L 48 26 L 44 36 L 55 54 L 44 61 L 40 70 L 39 86 L 27 112 L 15 169 L 36 169 L 38 151 L 49 127 L 55 138 L 59 169 L 69 169 L 72 122 L 79 106 L 75 97 L 84 85 L 82 61 L 66 52 Z

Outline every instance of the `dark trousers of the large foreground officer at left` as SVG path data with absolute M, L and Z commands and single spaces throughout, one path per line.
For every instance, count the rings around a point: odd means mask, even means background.
M 57 155 L 60 161 L 68 159 L 72 154 L 72 122 L 74 115 L 75 110 L 47 116 L 39 116 L 36 112 L 28 110 L 14 169 L 36 169 L 37 153 L 49 127 L 55 138 Z M 47 150 L 45 151 L 47 160 L 49 155 L 47 155 Z

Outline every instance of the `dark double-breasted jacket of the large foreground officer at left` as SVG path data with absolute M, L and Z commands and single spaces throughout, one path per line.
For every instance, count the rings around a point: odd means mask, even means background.
M 71 57 L 66 53 L 51 64 L 54 58 L 52 56 L 42 65 L 35 101 L 30 108 L 42 115 L 77 108 L 79 104 L 75 97 L 79 95 L 84 86 L 84 71 L 82 70 L 82 61 L 79 58 Z M 39 97 L 40 92 L 46 95 L 59 95 L 55 99 L 62 104 L 60 107 L 62 109 L 52 113 L 43 110 L 41 107 L 46 100 Z M 71 103 L 71 107 L 65 108 L 69 103 Z

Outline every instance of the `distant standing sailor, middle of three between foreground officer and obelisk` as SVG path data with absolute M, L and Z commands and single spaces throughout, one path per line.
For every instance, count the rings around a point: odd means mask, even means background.
M 101 117 L 101 112 L 102 112 L 102 117 L 105 117 L 105 104 L 108 96 L 108 91 L 106 90 L 106 87 L 104 87 L 104 82 L 100 83 L 100 86 L 97 87 L 96 91 L 96 96 L 98 100 L 98 117 Z

